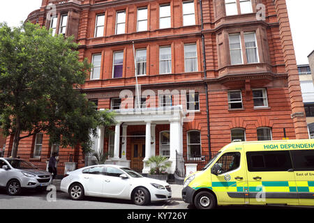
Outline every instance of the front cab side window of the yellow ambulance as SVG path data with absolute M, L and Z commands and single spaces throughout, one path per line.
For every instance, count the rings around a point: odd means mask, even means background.
M 240 167 L 240 157 L 240 153 L 225 153 L 222 155 L 216 162 L 221 168 L 219 174 L 224 174 Z

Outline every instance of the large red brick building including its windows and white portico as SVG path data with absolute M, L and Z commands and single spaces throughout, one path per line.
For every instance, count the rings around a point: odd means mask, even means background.
M 308 138 L 285 0 L 43 0 L 27 20 L 74 35 L 94 64 L 82 92 L 117 112 L 115 134 L 94 140 L 107 162 L 147 173 L 162 154 L 173 173 L 176 151 Z M 36 137 L 19 150 L 52 151 Z

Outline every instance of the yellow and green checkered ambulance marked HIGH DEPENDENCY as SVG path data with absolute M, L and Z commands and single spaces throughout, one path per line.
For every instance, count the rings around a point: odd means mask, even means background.
M 185 178 L 182 198 L 199 209 L 314 206 L 314 139 L 228 144 Z

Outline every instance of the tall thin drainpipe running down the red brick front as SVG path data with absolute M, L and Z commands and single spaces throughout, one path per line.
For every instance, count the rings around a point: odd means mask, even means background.
M 202 10 L 202 0 L 200 0 L 200 15 L 201 15 L 201 28 L 202 31 L 204 29 L 203 23 L 203 10 Z M 201 31 L 202 36 L 202 49 L 203 49 L 203 70 L 204 70 L 204 79 L 207 78 L 207 68 L 206 68 L 206 54 L 205 54 L 205 40 L 204 34 Z M 208 84 L 204 83 L 205 91 L 206 91 L 206 113 L 207 113 L 207 139 L 208 139 L 208 151 L 209 151 L 209 159 L 211 159 L 211 130 L 209 126 L 209 100 L 208 100 Z

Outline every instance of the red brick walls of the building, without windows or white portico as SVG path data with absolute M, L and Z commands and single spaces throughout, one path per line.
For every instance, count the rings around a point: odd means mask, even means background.
M 31 13 L 28 20 L 41 26 L 50 26 L 47 3 L 57 3 L 57 17 L 68 15 L 65 35 L 74 35 L 80 43 L 80 59 L 92 61 L 93 54 L 101 54 L 100 78 L 87 78 L 82 91 L 87 98 L 98 101 L 98 109 L 110 109 L 111 98 L 119 98 L 122 90 L 135 93 L 135 49 L 147 49 L 146 75 L 138 77 L 142 91 L 193 90 L 199 93 L 200 109 L 193 121 L 182 125 L 183 152 L 188 151 L 188 132 L 200 131 L 202 153 L 218 151 L 231 142 L 231 130 L 245 130 L 247 141 L 257 140 L 258 128 L 269 128 L 271 139 L 282 139 L 285 129 L 289 139 L 307 138 L 306 119 L 299 86 L 297 64 L 285 0 L 252 0 L 252 12 L 226 16 L 223 0 L 194 1 L 195 24 L 184 26 L 183 1 L 50 1 L 43 0 L 40 10 Z M 159 29 L 160 6 L 170 4 L 170 28 Z M 257 20 L 258 4 L 263 3 L 265 20 Z M 237 1 L 240 10 L 239 1 Z M 200 8 L 202 6 L 202 10 Z M 137 9 L 147 7 L 147 31 L 137 31 Z M 117 12 L 126 12 L 125 33 L 115 34 Z M 94 37 L 96 15 L 105 15 L 103 36 Z M 57 25 L 57 30 L 59 26 Z M 230 34 L 239 33 L 243 63 L 232 64 Z M 245 46 L 246 33 L 255 33 L 258 61 L 250 63 Z M 184 45 L 193 43 L 197 49 L 197 70 L 185 71 Z M 171 71 L 160 75 L 159 49 L 171 47 Z M 204 47 L 204 48 L 203 48 Z M 122 77 L 112 78 L 114 52 L 123 51 Z M 255 107 L 253 90 L 264 89 L 267 106 Z M 228 91 L 241 91 L 241 109 L 228 107 Z M 173 95 L 174 97 L 174 95 Z M 186 107 L 184 98 L 178 105 Z M 158 98 L 155 100 L 158 107 Z M 207 126 L 207 102 L 209 128 Z M 188 114 L 186 114 L 188 116 Z M 169 123 L 156 123 L 155 151 L 160 153 L 160 132 L 170 130 Z M 210 133 L 208 132 L 210 130 Z M 122 129 L 120 130 L 122 134 Z M 130 135 L 144 134 L 144 123 L 128 125 Z M 44 137 L 45 139 L 45 137 Z M 47 139 L 45 139 L 47 140 Z M 131 160 L 131 138 L 126 143 L 126 159 Z M 210 144 L 209 144 L 210 140 Z M 10 148 L 7 139 L 7 148 Z M 23 139 L 21 148 L 33 148 L 34 139 Z M 109 148 L 108 139 L 103 149 Z M 20 148 L 20 149 L 21 149 Z M 49 150 L 47 146 L 43 150 Z M 119 155 L 122 148 L 120 145 Z

